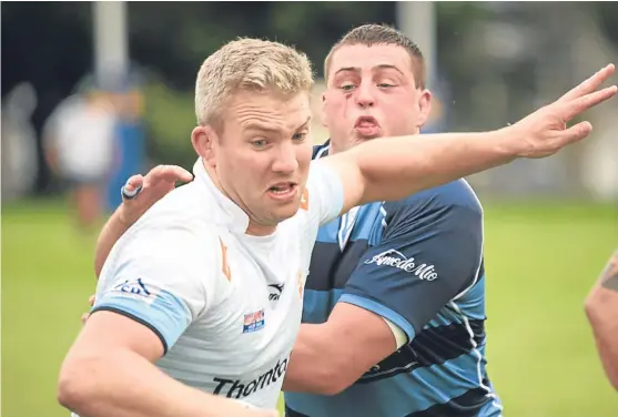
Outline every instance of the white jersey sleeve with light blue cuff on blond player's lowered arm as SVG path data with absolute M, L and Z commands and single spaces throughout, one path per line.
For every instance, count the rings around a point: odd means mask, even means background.
M 111 311 L 143 324 L 166 353 L 216 293 L 216 247 L 200 243 L 181 227 L 139 232 L 118 245 L 92 312 Z

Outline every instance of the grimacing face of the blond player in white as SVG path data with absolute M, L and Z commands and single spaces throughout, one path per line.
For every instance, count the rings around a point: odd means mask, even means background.
M 216 152 L 223 190 L 269 234 L 298 210 L 312 154 L 306 93 L 241 92 L 224 111 Z

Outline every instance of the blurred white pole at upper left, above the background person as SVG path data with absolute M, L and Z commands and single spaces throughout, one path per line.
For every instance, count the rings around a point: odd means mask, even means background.
M 126 2 L 95 1 L 93 21 L 97 80 L 105 83 L 110 78 L 123 78 L 129 65 Z

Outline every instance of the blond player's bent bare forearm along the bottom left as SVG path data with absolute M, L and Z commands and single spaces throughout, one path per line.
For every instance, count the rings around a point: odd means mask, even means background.
M 59 401 L 81 417 L 214 417 L 244 409 L 170 378 L 131 352 L 73 360 L 80 366 L 61 375 Z

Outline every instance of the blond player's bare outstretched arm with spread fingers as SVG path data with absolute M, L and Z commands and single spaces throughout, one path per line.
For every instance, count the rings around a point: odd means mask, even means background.
M 616 85 L 596 91 L 614 71 L 612 64 L 607 65 L 558 101 L 498 131 L 381 139 L 317 163 L 338 171 L 345 213 L 368 202 L 403 199 L 517 157 L 549 156 L 588 136 L 589 122 L 569 129 L 566 123 L 616 94 Z

